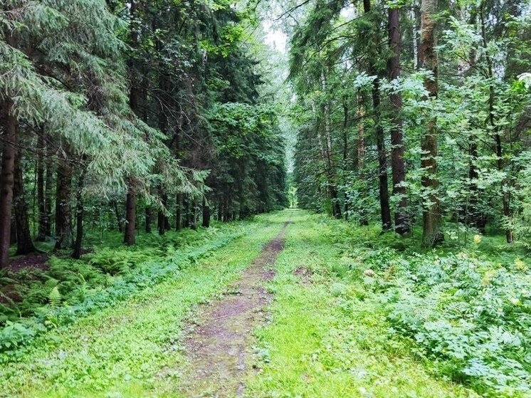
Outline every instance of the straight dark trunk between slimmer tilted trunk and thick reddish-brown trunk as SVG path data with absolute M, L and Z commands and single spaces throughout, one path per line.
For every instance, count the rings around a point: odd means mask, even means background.
M 389 8 L 389 48 L 393 56 L 387 65 L 389 80 L 400 77 L 400 10 L 396 7 Z M 402 135 L 402 96 L 401 93 L 391 93 L 393 108 L 391 120 L 391 170 L 393 177 L 393 194 L 400 197 L 394 212 L 394 229 L 404 235 L 410 231 L 409 216 L 407 214 L 406 187 L 406 162 L 404 161 L 404 137 Z

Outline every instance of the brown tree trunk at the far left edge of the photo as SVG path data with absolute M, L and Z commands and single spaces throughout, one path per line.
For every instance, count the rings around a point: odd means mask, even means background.
M 4 130 L 0 175 L 0 268 L 9 263 L 11 239 L 11 207 L 13 206 L 13 182 L 15 168 L 16 119 L 11 115 L 13 101 L 0 104 L 0 125 Z

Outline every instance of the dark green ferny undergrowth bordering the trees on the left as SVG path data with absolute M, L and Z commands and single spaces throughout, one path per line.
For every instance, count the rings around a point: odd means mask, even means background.
M 0 302 L 0 362 L 22 355 L 19 348 L 46 330 L 115 305 L 171 277 L 251 225 L 243 221 L 164 236 L 142 234 L 136 246 L 110 241 L 82 260 L 52 256 L 48 269 L 4 272 L 0 286 L 8 287 L 9 295 Z

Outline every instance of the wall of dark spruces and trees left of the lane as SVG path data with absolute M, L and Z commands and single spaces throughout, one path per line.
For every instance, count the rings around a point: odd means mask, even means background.
M 1 266 L 34 240 L 79 258 L 84 221 L 132 245 L 286 205 L 251 6 L 2 1 Z

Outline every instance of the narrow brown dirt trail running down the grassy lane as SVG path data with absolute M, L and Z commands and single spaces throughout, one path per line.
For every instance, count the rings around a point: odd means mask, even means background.
M 196 328 L 188 333 L 185 346 L 189 369 L 182 389 L 185 397 L 242 397 L 246 356 L 251 332 L 265 322 L 265 306 L 271 295 L 263 288 L 275 272 L 272 266 L 284 247 L 289 222 L 267 243 L 227 295 L 204 308 Z

